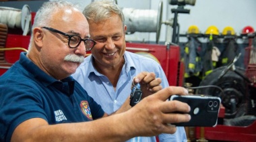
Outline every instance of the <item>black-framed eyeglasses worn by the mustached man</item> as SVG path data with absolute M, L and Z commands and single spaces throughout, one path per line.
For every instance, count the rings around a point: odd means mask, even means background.
M 92 50 L 92 48 L 94 47 L 94 45 L 96 44 L 96 42 L 92 39 L 82 39 L 80 36 L 71 36 L 67 33 L 63 33 L 62 31 L 59 31 L 57 29 L 53 29 L 51 27 L 42 27 L 44 29 L 48 29 L 49 31 L 53 31 L 55 33 L 60 33 L 63 36 L 67 36 L 69 37 L 69 48 L 77 48 L 77 46 L 79 46 L 79 44 L 84 41 L 84 45 L 86 46 L 86 52 Z

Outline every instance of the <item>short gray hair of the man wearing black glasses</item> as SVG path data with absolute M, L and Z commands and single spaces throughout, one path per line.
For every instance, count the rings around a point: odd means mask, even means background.
M 59 9 L 79 9 L 77 5 L 74 5 L 73 3 L 69 3 L 67 1 L 47 1 L 42 4 L 42 7 L 38 9 L 36 12 L 36 16 L 34 17 L 34 24 L 32 25 L 32 31 L 35 27 L 43 27 L 48 26 L 53 23 L 53 15 Z M 28 47 L 28 50 L 30 50 L 32 46 L 32 42 L 34 40 L 33 35 L 30 38 L 30 45 Z

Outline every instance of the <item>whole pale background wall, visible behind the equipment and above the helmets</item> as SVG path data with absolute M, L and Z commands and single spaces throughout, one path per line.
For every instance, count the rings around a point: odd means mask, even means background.
M 79 3 L 82 9 L 91 2 L 91 0 L 67 1 Z M 160 0 L 117 0 L 117 2 L 120 7 L 158 10 Z M 169 5 L 168 0 L 163 0 L 162 21 L 173 18 L 174 14 L 170 12 L 170 9 L 176 7 L 177 5 Z M 246 25 L 251 25 L 256 29 L 256 0 L 197 0 L 195 6 L 186 5 L 185 9 L 190 9 L 190 13 L 179 13 L 180 33 L 186 33 L 190 25 L 197 25 L 202 33 L 210 25 L 216 25 L 220 32 L 224 27 L 232 26 L 238 34 Z M 166 27 L 162 24 L 160 42 L 166 41 Z M 156 33 L 135 32 L 127 35 L 126 39 L 137 42 L 155 42 Z

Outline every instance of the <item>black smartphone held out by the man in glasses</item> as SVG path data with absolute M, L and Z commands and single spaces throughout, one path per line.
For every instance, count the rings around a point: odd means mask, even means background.
M 187 123 L 173 123 L 185 127 L 215 127 L 218 123 L 221 100 L 217 96 L 206 95 L 172 95 L 170 100 L 186 102 L 191 107 L 191 120 Z

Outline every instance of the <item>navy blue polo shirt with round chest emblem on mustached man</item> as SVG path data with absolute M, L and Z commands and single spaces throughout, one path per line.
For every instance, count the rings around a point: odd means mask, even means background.
M 20 123 L 42 118 L 50 125 L 92 121 L 104 115 L 101 106 L 71 76 L 49 76 L 25 53 L 0 76 L 0 141 L 10 141 Z

